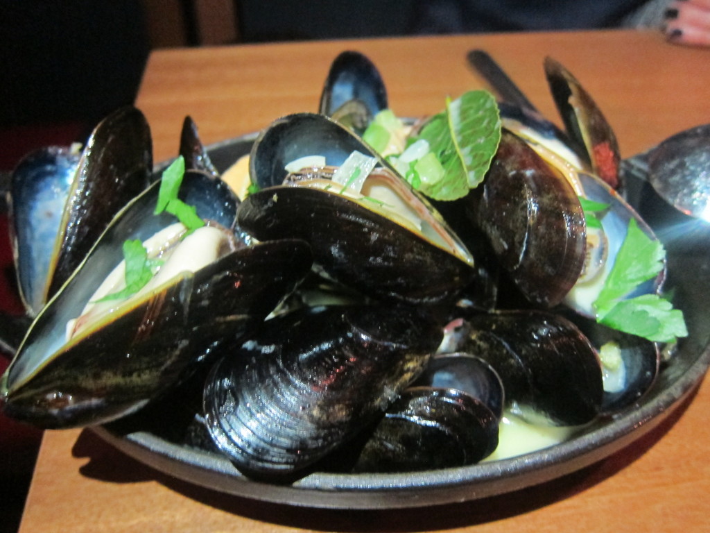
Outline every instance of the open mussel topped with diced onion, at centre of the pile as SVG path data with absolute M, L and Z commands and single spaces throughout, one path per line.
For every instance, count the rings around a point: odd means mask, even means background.
M 395 221 L 368 198 L 356 201 L 340 193 L 342 185 L 273 186 L 283 182 L 291 161 L 317 154 L 328 166 L 338 166 L 353 151 L 376 157 L 357 136 L 322 115 L 277 120 L 251 155 L 252 181 L 271 186 L 244 199 L 237 212 L 240 227 L 262 241 L 306 240 L 323 271 L 368 296 L 432 303 L 468 284 L 474 276 L 468 250 L 441 215 L 386 166 L 381 177 L 396 195 L 390 198 L 415 213 L 422 232 Z

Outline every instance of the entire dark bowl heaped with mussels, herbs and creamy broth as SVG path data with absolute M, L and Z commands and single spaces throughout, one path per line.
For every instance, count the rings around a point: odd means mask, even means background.
M 28 154 L 4 413 L 314 507 L 471 500 L 627 446 L 709 365 L 707 222 L 545 74 L 564 131 L 484 90 L 400 118 L 344 52 L 318 112 L 207 147 L 186 117 L 155 168 L 134 107 Z

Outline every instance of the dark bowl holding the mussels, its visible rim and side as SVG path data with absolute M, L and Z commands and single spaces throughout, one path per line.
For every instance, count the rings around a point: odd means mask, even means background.
M 212 146 L 212 161 L 223 170 L 246 154 L 254 139 L 251 135 Z M 463 468 L 394 474 L 317 471 L 295 483 L 277 485 L 241 475 L 202 438 L 194 424 L 199 386 L 185 387 L 140 414 L 95 431 L 138 461 L 189 483 L 255 500 L 310 507 L 378 509 L 475 500 L 591 465 L 660 424 L 694 391 L 710 365 L 710 226 L 674 212 L 645 184 L 629 185 L 630 202 L 665 242 L 669 271 L 665 287 L 673 292 L 674 305 L 684 311 L 689 337 L 680 341 L 677 354 L 637 404 L 596 421 L 569 441 Z

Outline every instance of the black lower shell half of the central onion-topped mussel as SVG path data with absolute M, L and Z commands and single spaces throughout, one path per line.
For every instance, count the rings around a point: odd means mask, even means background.
M 329 276 L 376 298 L 436 303 L 474 276 L 469 264 L 444 249 L 325 190 L 261 190 L 241 203 L 237 221 L 259 240 L 304 239 Z

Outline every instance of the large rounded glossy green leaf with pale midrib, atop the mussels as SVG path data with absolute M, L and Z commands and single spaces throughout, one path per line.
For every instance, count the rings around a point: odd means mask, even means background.
M 435 200 L 456 200 L 483 181 L 501 141 L 498 104 L 487 91 L 469 91 L 447 100 L 444 112 L 432 117 L 418 139 L 425 139 L 444 173 L 420 177 L 420 191 Z

